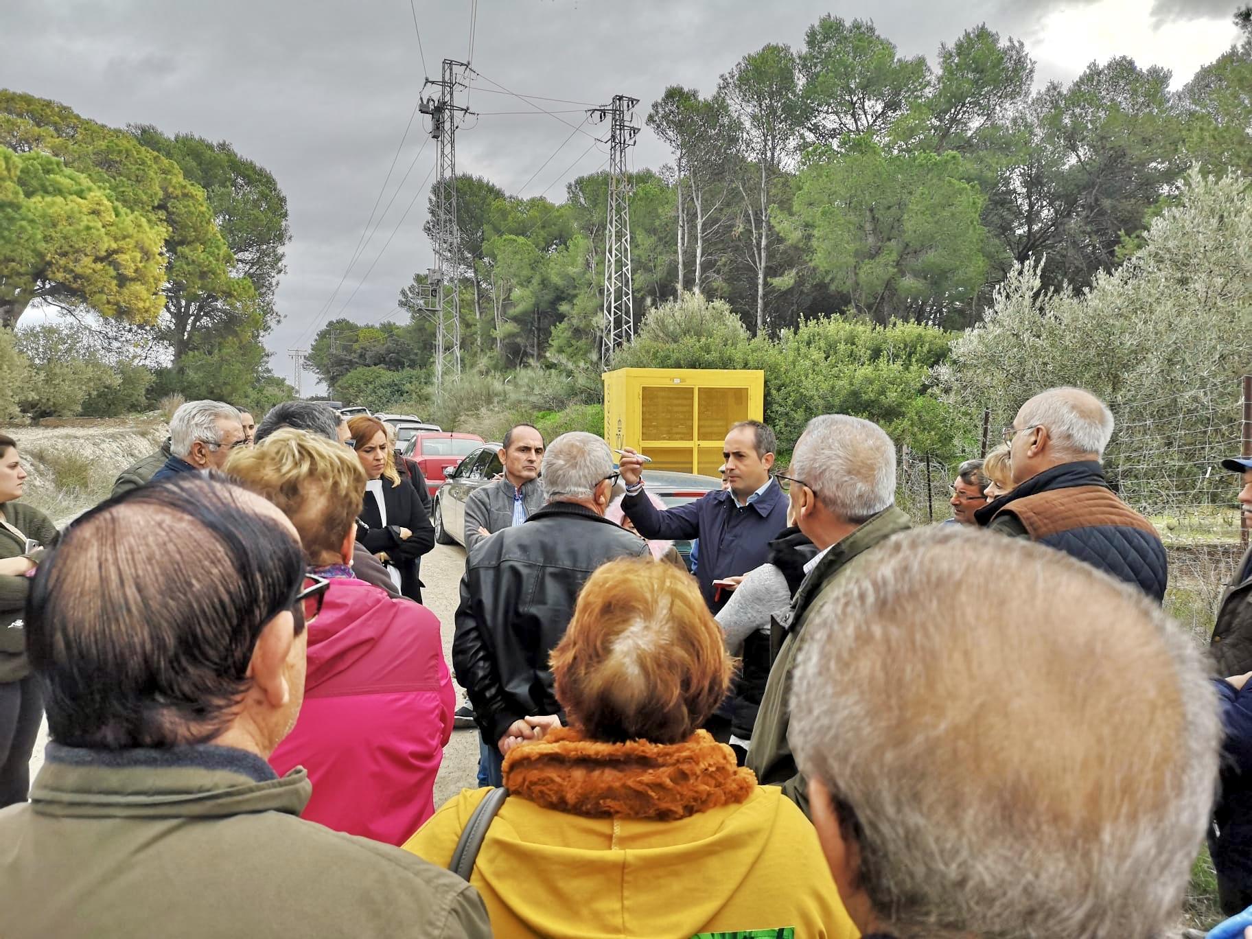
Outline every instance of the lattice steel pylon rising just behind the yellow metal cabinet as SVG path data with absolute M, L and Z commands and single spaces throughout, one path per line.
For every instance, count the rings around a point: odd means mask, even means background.
M 601 362 L 635 338 L 634 283 L 630 268 L 630 177 L 626 148 L 635 145 L 637 98 L 613 95 L 613 103 L 588 115 L 608 124 L 608 224 L 605 230 L 605 318 Z

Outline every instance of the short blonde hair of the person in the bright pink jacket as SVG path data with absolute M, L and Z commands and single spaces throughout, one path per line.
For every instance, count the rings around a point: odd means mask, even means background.
M 347 447 L 284 427 L 234 451 L 225 472 L 290 518 L 310 563 L 339 560 L 366 495 L 366 471 Z

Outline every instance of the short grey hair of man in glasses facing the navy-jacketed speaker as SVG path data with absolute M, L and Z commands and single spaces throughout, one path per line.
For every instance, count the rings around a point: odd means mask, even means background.
M 821 414 L 796 442 L 789 476 L 840 518 L 864 522 L 895 502 L 895 444 L 873 421 Z

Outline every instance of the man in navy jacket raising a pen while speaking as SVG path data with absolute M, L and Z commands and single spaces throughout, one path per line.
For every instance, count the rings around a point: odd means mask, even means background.
M 717 597 L 714 581 L 760 567 L 769 560 L 770 541 L 786 527 L 788 498 L 770 476 L 776 448 L 774 431 L 760 421 L 741 421 L 722 444 L 730 488 L 664 511 L 644 497 L 644 462 L 635 451 L 622 451 L 622 508 L 645 538 L 700 538 L 696 580 L 714 612 L 729 598 L 726 591 Z

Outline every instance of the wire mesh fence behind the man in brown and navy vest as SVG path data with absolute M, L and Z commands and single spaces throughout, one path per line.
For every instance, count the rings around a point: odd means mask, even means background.
M 1169 556 L 1166 607 L 1197 637 L 1212 631 L 1224 586 L 1246 536 L 1236 502 L 1238 478 L 1222 461 L 1252 442 L 1248 382 L 1181 389 L 1167 398 L 1109 402 L 1116 429 L 1104 453 L 1109 485 L 1161 533 Z M 1015 416 L 1004 407 L 973 412 L 963 439 L 977 441 L 963 458 L 1000 443 Z M 955 467 L 901 447 L 896 501 L 916 523 L 952 517 Z

